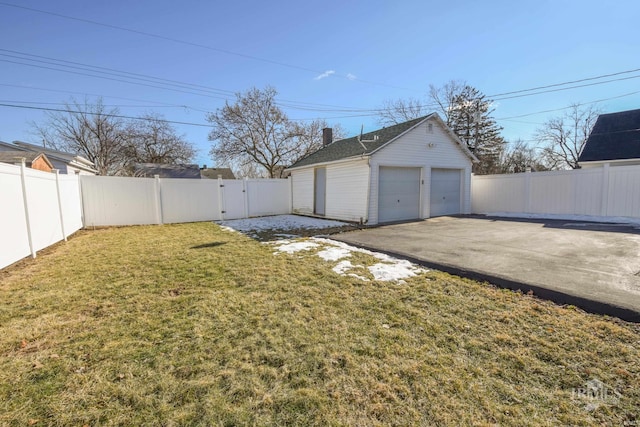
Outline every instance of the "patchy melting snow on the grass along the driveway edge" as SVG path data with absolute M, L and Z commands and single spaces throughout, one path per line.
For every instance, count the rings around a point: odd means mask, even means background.
M 355 277 L 359 280 L 368 282 L 370 279 L 364 277 L 361 274 L 354 273 L 355 271 L 366 271 L 373 276 L 373 280 L 378 281 L 397 281 L 404 283 L 402 279 L 415 276 L 427 270 L 412 264 L 411 262 L 403 259 L 391 257 L 389 255 L 381 254 L 378 252 L 368 251 L 366 249 L 360 249 L 355 246 L 348 245 L 343 242 L 337 242 L 331 239 L 313 237 L 311 239 L 301 240 L 280 240 L 271 243 L 275 246 L 276 252 L 286 252 L 289 254 L 308 251 L 311 249 L 320 249 L 315 253 L 318 257 L 327 262 L 339 261 L 332 270 L 341 276 Z M 381 262 L 373 264 L 369 267 L 363 265 L 353 265 L 351 261 L 344 258 L 348 258 L 352 253 L 363 253 L 370 255 Z

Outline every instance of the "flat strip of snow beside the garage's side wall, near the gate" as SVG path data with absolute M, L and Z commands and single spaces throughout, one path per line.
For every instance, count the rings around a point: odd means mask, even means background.
M 348 225 L 341 221 L 310 218 L 298 215 L 275 215 L 258 218 L 232 219 L 228 221 L 216 221 L 216 223 L 221 227 L 229 227 L 243 233 L 269 230 L 313 230 Z

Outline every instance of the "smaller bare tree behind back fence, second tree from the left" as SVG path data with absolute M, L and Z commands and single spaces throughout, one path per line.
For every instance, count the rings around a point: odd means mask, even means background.
M 127 127 L 127 161 L 130 163 L 189 163 L 195 156 L 193 145 L 178 135 L 164 118 L 147 113 Z

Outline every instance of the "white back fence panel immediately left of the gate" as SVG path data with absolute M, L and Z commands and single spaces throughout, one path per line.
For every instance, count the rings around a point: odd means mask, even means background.
M 220 216 L 218 180 L 161 179 L 164 223 L 216 221 Z

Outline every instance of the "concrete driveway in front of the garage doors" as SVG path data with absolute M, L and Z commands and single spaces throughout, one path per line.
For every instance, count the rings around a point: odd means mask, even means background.
M 640 229 L 635 226 L 461 216 L 332 238 L 640 322 Z

